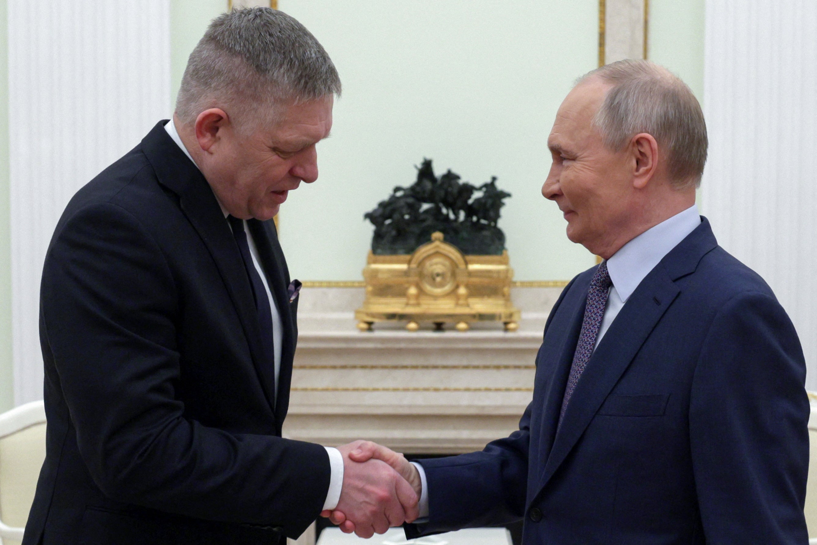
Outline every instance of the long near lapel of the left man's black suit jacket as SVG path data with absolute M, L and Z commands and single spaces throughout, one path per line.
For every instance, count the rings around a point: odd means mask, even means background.
M 179 196 L 182 212 L 199 233 L 204 245 L 212 255 L 227 293 L 239 315 L 244 336 L 252 355 L 252 364 L 261 382 L 270 409 L 275 411 L 275 374 L 263 357 L 261 330 L 244 270 L 239 248 L 230 226 L 224 219 L 216 195 L 199 168 L 181 151 L 164 130 L 160 122 L 142 141 L 142 149 L 153 165 L 158 181 Z

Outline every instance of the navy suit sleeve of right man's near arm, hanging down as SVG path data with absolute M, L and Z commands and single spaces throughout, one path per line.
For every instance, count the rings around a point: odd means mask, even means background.
M 690 400 L 707 543 L 808 540 L 805 377 L 797 333 L 774 297 L 740 294 L 713 319 Z

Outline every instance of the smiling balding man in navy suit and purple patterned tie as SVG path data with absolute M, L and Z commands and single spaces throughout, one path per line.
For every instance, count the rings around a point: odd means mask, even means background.
M 519 431 L 453 458 L 353 458 L 413 484 L 410 536 L 524 519 L 525 545 L 806 543 L 806 364 L 695 207 L 707 134 L 689 87 L 645 60 L 596 69 L 548 146 L 542 194 L 604 261 L 551 310 Z

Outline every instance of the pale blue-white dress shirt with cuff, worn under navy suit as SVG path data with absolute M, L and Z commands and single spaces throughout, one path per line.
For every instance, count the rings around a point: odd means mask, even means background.
M 596 335 L 596 346 L 605 336 L 610 324 L 618 312 L 641 284 L 641 280 L 659 264 L 667 253 L 672 251 L 681 240 L 685 239 L 701 223 L 698 207 L 694 204 L 684 212 L 679 212 L 659 225 L 645 230 L 630 242 L 624 244 L 613 257 L 607 260 L 607 270 L 613 285 L 607 295 L 605 314 L 601 318 L 599 333 Z M 420 496 L 420 519 L 428 517 L 428 491 L 426 489 L 426 471 L 422 465 L 412 462 L 420 473 L 422 494 Z

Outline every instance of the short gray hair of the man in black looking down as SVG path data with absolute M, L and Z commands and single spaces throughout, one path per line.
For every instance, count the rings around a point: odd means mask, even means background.
M 268 7 L 234 9 L 212 20 L 190 53 L 176 115 L 192 124 L 218 107 L 233 118 L 270 123 L 284 103 L 340 94 L 335 65 L 304 25 Z

